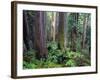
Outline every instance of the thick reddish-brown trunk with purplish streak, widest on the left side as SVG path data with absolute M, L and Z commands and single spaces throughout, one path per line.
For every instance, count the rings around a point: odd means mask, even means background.
M 37 58 L 47 58 L 44 12 L 37 12 L 35 19 L 35 46 L 37 50 Z

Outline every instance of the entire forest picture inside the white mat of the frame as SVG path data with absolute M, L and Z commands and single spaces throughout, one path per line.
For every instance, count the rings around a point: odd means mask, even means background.
M 91 14 L 23 10 L 23 68 L 91 65 Z

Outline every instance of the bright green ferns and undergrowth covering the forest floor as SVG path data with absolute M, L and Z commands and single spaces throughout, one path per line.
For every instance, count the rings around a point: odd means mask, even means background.
M 47 48 L 48 48 L 47 59 L 42 58 L 38 60 L 35 57 L 36 51 L 33 49 L 26 52 L 24 55 L 24 62 L 23 62 L 24 69 L 75 67 L 75 66 L 90 65 L 90 58 L 88 57 L 89 56 L 88 54 L 73 52 L 70 50 L 70 48 L 61 51 L 58 48 L 58 44 L 56 42 L 48 43 Z

